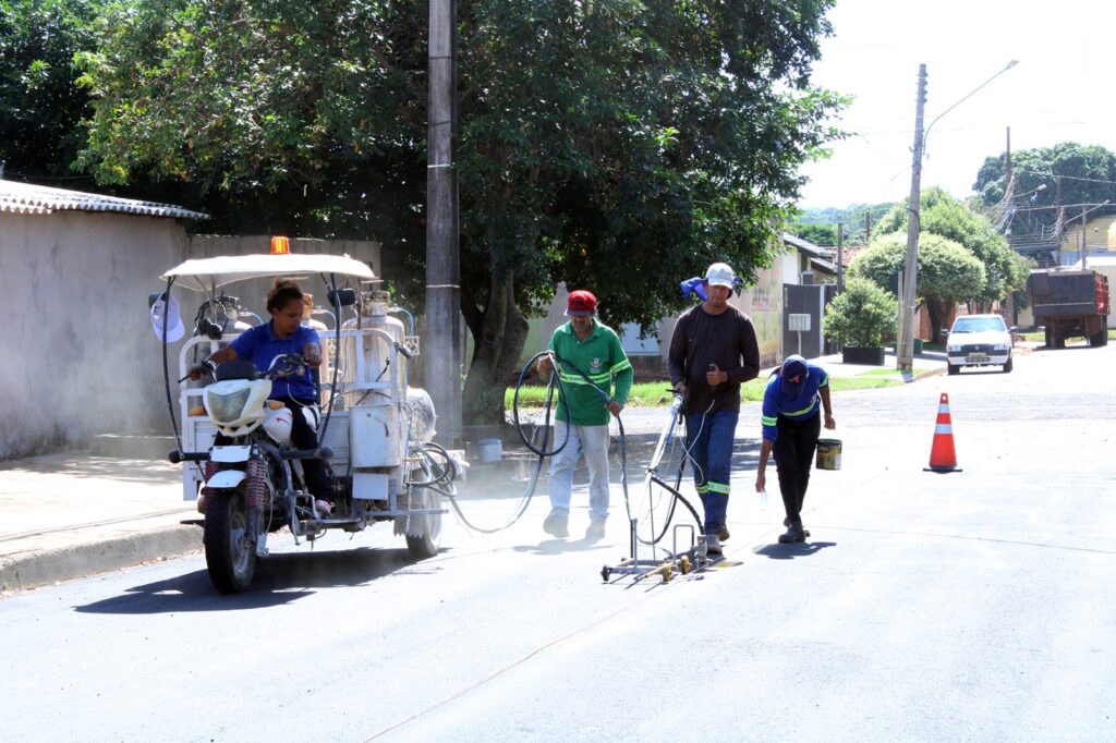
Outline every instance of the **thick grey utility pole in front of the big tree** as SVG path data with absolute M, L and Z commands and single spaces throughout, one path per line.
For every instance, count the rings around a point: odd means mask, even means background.
M 461 263 L 458 234 L 458 2 L 430 0 L 426 113 L 425 384 L 437 412 L 437 441 L 461 442 Z

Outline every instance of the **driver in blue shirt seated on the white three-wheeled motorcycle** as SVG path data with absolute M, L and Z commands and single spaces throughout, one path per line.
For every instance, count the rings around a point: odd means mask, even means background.
M 268 292 L 268 312 L 271 320 L 246 330 L 231 344 L 217 350 L 201 366 L 194 367 L 190 377 L 198 379 L 210 366 L 238 358 L 247 359 L 260 372 L 268 369 L 277 356 L 299 354 L 311 367 L 321 365 L 321 339 L 312 328 L 302 322 L 302 290 L 292 279 L 276 279 Z M 270 399 L 282 403 L 291 411 L 291 443 L 296 448 L 317 448 L 318 435 L 306 415 L 317 415 L 318 390 L 309 374 L 289 375 L 272 380 Z M 221 444 L 220 435 L 219 441 Z M 227 442 L 224 442 L 227 443 Z M 315 499 L 318 515 L 333 512 L 333 488 L 326 465 L 319 459 L 302 460 L 306 488 Z

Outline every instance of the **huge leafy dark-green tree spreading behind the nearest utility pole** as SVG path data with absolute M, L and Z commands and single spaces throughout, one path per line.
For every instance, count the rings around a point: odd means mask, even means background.
M 466 421 L 502 421 L 555 286 L 650 327 L 714 260 L 749 277 L 843 100 L 811 88 L 833 0 L 461 3 Z M 83 165 L 196 184 L 294 234 L 382 240 L 421 297 L 426 3 L 129 0 L 88 55 Z M 385 196 L 381 202 L 379 196 Z M 215 200 L 214 200 L 215 201 Z M 213 203 L 210 201 L 209 203 Z M 252 205 L 258 205 L 251 209 Z M 230 216 L 231 219 L 231 216 Z M 496 404 L 485 401 L 496 399 Z

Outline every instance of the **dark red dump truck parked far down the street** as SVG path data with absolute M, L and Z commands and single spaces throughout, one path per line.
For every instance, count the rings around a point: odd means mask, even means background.
M 1027 295 L 1037 325 L 1046 326 L 1047 348 L 1065 348 L 1067 338 L 1108 342 L 1108 278 L 1098 271 L 1031 271 Z

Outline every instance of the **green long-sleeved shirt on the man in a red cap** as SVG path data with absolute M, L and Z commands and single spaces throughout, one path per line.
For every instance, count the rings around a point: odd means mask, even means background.
M 561 384 L 558 389 L 558 413 L 555 417 L 567 421 L 566 406 L 561 402 L 566 399 L 573 418 L 567 423 L 575 426 L 608 425 L 610 414 L 605 408 L 605 396 L 594 387 L 620 405 L 627 404 L 628 393 L 632 392 L 632 363 L 628 361 L 616 331 L 594 319 L 593 330 L 585 340 L 578 340 L 573 324 L 567 322 L 555 330 L 548 348 L 571 366 L 585 372 L 593 380 L 590 385 L 574 369 L 564 368 L 561 363 L 557 364 L 558 379 Z M 616 389 L 612 392 L 614 379 Z

